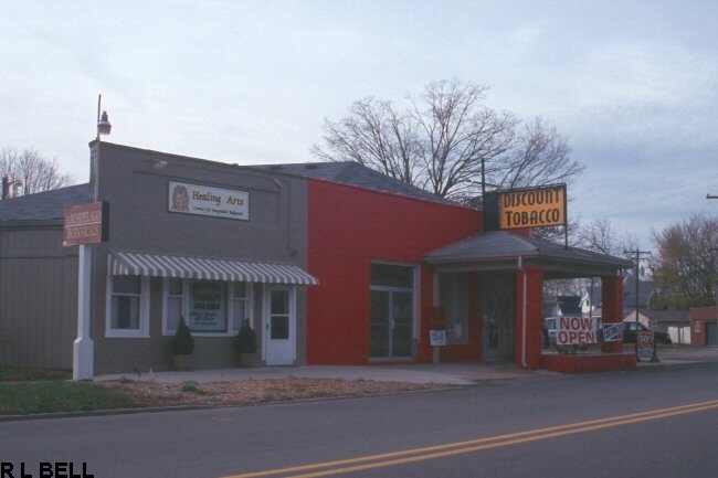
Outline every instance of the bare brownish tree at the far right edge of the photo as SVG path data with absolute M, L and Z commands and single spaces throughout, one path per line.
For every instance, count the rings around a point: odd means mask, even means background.
M 682 223 L 653 234 L 658 248 L 650 268 L 657 287 L 654 308 L 715 305 L 718 283 L 718 219 L 694 214 Z M 712 249 L 712 251 L 711 251 Z

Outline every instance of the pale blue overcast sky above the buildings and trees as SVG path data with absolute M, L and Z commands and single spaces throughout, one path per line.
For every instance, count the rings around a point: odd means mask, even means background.
M 718 2 L 0 0 L 0 147 L 88 177 L 108 140 L 240 164 L 310 161 L 325 117 L 442 78 L 541 116 L 585 166 L 569 215 L 652 247 L 718 214 Z

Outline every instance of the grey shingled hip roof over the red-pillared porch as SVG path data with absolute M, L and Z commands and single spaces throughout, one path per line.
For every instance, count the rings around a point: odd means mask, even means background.
M 516 269 L 518 258 L 526 266 L 545 270 L 546 278 L 615 275 L 632 267 L 631 261 L 579 247 L 524 237 L 506 231 L 489 231 L 433 251 L 424 261 L 439 272 Z

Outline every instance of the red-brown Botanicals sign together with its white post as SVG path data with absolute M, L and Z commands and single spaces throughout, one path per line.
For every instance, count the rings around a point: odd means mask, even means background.
M 93 202 L 65 209 L 63 246 L 78 247 L 77 338 L 73 343 L 72 379 L 94 375 L 94 344 L 91 338 L 92 244 L 107 241 L 108 204 Z

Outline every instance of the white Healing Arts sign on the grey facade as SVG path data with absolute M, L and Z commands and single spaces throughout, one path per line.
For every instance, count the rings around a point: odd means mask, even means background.
M 250 219 L 250 193 L 207 185 L 169 182 L 169 211 L 215 217 Z

